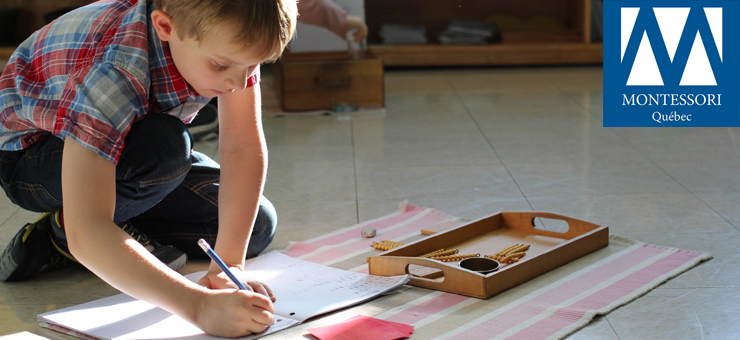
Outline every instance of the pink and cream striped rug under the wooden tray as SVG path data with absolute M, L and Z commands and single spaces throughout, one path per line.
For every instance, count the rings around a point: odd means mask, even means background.
M 356 272 L 380 253 L 373 241 L 410 242 L 419 230 L 455 217 L 401 204 L 391 215 L 292 243 L 285 254 Z M 378 236 L 360 237 L 373 227 Z M 415 327 L 412 339 L 562 339 L 679 275 L 708 253 L 661 247 L 611 236 L 609 246 L 487 300 L 412 287 L 263 339 L 306 339 L 306 329 L 367 315 Z

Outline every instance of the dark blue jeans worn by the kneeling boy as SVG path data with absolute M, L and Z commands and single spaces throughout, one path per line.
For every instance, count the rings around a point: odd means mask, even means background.
M 192 151 L 193 139 L 179 119 L 147 114 L 134 123 L 116 167 L 114 222 L 134 227 L 162 244 L 173 245 L 191 259 L 208 257 L 197 245 L 211 246 L 218 232 L 220 166 Z M 48 134 L 21 151 L 0 151 L 0 184 L 23 209 L 62 209 L 64 141 Z M 249 241 L 247 257 L 257 256 L 272 242 L 277 214 L 264 196 Z

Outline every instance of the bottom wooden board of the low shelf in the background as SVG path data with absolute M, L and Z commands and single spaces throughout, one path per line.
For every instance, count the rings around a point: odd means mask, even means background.
M 602 43 L 370 45 L 384 66 L 600 64 Z

